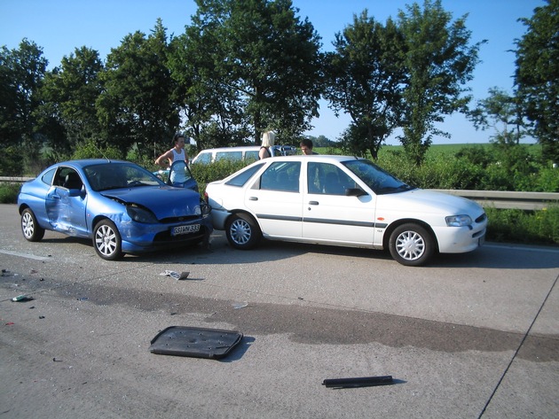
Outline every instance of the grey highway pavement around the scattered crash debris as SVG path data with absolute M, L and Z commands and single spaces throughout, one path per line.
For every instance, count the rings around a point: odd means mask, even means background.
M 407 268 L 336 247 L 242 252 L 217 232 L 209 250 L 108 262 L 89 241 L 28 243 L 0 205 L 0 268 L 1 419 L 559 417 L 556 248 L 488 243 Z M 169 326 L 244 338 L 221 361 L 150 353 Z M 362 376 L 394 384 L 323 385 Z

